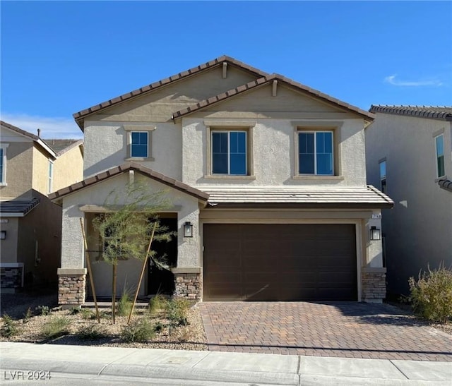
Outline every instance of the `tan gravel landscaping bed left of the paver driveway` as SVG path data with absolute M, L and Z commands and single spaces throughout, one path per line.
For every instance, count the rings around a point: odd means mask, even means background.
M 40 306 L 49 307 L 49 315 L 40 315 Z M 30 309 L 30 311 L 28 311 Z M 47 308 L 44 308 L 46 310 Z M 95 319 L 95 308 L 90 308 L 90 315 L 87 313 L 76 313 L 71 315 L 71 310 L 61 310 L 57 306 L 57 295 L 49 292 L 1 294 L 1 315 L 9 315 L 16 321 L 19 333 L 12 337 L 0 337 L 1 341 L 10 342 L 34 342 L 52 344 L 80 344 L 85 346 L 115 346 L 115 347 L 135 347 L 147 349 L 182 349 L 182 350 L 207 350 L 206 334 L 204 332 L 203 321 L 199 313 L 198 306 L 194 304 L 186 313 L 188 325 L 168 327 L 169 320 L 160 313 L 152 316 L 147 308 L 138 308 L 136 315 L 133 315 L 131 322 L 138 318 L 146 318 L 154 325 L 160 323 L 163 327 L 155 338 L 146 343 L 124 342 L 121 339 L 121 330 L 127 325 L 127 317 L 117 316 L 115 324 L 112 324 L 111 312 L 109 308 L 102 308 L 100 324 Z M 29 313 L 29 317 L 25 317 Z M 33 314 L 31 316 L 31 314 Z M 69 334 L 65 334 L 56 339 L 45 340 L 42 337 L 42 327 L 54 318 L 68 318 Z M 0 318 L 0 328 L 4 325 L 4 318 Z M 102 330 L 102 337 L 97 339 L 83 339 L 79 332 L 88 331 L 91 328 Z

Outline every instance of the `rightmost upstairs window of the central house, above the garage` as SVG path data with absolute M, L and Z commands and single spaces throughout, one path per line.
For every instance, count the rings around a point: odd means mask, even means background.
M 333 176 L 333 132 L 300 131 L 298 133 L 298 172 L 315 176 Z

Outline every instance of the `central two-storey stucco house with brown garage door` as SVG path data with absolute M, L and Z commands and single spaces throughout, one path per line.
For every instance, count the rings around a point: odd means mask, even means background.
M 136 181 L 166 192 L 173 206 L 161 217 L 177 231 L 166 248 L 171 275 L 149 269 L 141 295 L 384 298 L 381 241 L 369 231 L 379 233 L 381 208 L 393 202 L 366 185 L 373 114 L 222 56 L 74 118 L 85 134 L 85 179 L 51 197 L 63 207 L 59 303 L 85 301 L 80 219 L 99 260 L 91 221 L 112 191 Z M 119 294 L 140 265 L 119 262 Z M 105 262 L 93 265 L 99 296 L 111 294 L 111 275 Z

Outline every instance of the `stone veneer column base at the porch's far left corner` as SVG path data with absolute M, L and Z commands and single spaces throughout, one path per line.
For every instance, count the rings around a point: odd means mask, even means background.
M 85 303 L 86 268 L 58 269 L 58 304 L 64 309 Z

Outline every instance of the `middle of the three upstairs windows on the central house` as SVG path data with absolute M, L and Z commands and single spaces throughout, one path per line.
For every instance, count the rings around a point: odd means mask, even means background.
M 246 131 L 211 131 L 212 174 L 246 176 Z

